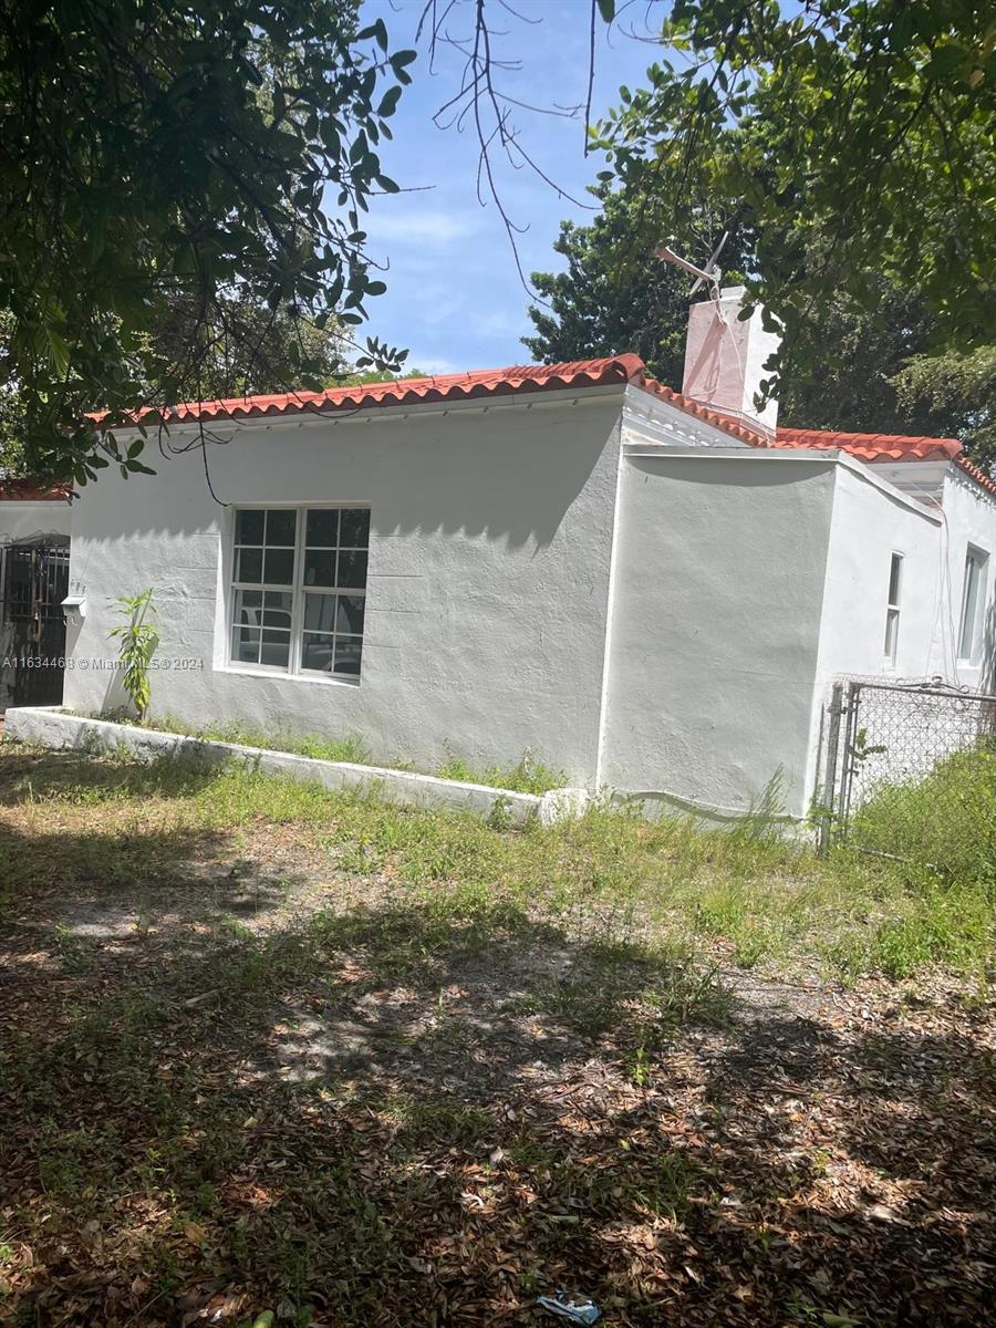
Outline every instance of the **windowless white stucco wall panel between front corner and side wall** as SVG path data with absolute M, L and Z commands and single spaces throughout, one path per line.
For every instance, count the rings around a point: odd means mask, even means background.
M 806 810 L 834 462 L 623 462 L 602 778 L 742 811 L 781 766 Z

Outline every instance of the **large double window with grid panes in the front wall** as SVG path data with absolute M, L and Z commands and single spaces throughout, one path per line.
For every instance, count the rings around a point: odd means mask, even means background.
M 231 663 L 359 680 L 369 507 L 235 513 Z

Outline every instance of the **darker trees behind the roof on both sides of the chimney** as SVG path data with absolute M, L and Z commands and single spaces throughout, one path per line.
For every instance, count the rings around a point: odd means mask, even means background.
M 603 211 L 590 226 L 560 224 L 562 272 L 534 272 L 542 305 L 529 309 L 523 337 L 546 363 L 635 351 L 649 372 L 681 386 L 691 278 L 645 250 L 632 252 L 640 202 L 596 191 Z M 679 246 L 708 252 L 722 224 L 722 201 L 708 226 Z M 754 235 L 734 228 L 724 246 L 729 280 L 753 260 Z M 996 347 L 932 353 L 934 319 L 918 290 L 875 279 L 874 308 L 838 297 L 799 329 L 784 363 L 780 418 L 810 429 L 956 437 L 981 463 L 996 462 Z

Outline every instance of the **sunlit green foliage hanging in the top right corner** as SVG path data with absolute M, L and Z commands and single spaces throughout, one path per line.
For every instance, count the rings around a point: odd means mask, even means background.
M 596 133 L 648 240 L 734 201 L 757 238 L 749 291 L 797 361 L 811 316 L 871 312 L 883 283 L 918 292 L 934 343 L 993 339 L 991 5 L 676 0 L 661 40 L 668 58 Z

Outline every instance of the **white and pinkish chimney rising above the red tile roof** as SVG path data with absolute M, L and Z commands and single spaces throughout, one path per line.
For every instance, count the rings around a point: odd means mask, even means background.
M 765 332 L 760 305 L 749 319 L 740 319 L 745 295 L 745 287 L 728 286 L 720 291 L 718 300 L 691 305 L 681 392 L 774 430 L 778 402 L 769 400 L 764 410 L 758 410 L 754 397 L 761 381 L 770 377 L 765 360 L 778 349 L 781 337 L 777 332 Z

